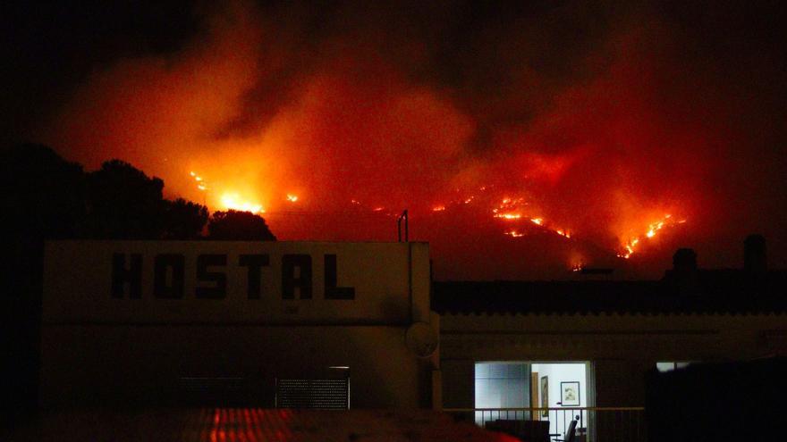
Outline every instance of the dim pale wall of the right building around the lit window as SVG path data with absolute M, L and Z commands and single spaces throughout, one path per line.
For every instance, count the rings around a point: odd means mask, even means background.
M 590 361 L 596 406 L 641 406 L 645 373 L 658 361 L 784 354 L 784 336 L 782 315 L 449 314 L 441 318 L 441 357 L 453 366 L 458 361 Z M 471 382 L 466 373 L 444 373 L 443 396 L 459 396 L 467 406 Z

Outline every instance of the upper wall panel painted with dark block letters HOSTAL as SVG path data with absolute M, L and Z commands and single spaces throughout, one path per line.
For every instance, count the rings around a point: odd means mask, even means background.
M 44 321 L 404 323 L 419 243 L 54 241 Z

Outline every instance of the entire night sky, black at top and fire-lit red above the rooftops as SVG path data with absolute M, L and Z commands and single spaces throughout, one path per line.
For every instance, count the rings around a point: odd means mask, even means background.
M 0 5 L 3 146 L 285 240 L 395 239 L 407 208 L 438 279 L 740 267 L 754 232 L 787 263 L 780 2 L 65 3 Z

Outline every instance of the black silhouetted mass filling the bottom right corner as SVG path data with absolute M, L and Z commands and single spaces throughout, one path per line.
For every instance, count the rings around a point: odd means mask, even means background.
M 702 363 L 647 379 L 649 440 L 783 440 L 787 359 Z

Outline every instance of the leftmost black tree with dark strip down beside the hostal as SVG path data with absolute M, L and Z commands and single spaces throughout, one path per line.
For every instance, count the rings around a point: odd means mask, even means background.
M 0 150 L 0 426 L 36 408 L 43 252 L 46 239 L 72 238 L 85 207 L 84 174 L 47 146 Z

